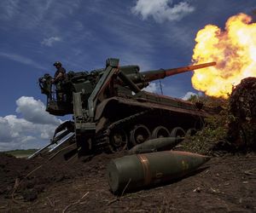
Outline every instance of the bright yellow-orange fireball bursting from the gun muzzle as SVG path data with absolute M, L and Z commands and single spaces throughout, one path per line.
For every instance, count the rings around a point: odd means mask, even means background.
M 230 17 L 222 31 L 207 25 L 195 37 L 195 64 L 216 61 L 217 66 L 198 70 L 192 77 L 195 89 L 227 98 L 232 87 L 247 77 L 256 77 L 256 23 L 247 14 Z

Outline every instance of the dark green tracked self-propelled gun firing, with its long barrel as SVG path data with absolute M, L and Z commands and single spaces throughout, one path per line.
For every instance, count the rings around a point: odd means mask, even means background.
M 113 153 L 148 139 L 182 137 L 200 130 L 214 109 L 143 89 L 154 80 L 214 65 L 140 72 L 139 66 L 119 66 L 118 59 L 108 59 L 102 69 L 68 72 L 61 84 L 61 100 L 55 99 L 52 78 L 45 74 L 39 85 L 47 96 L 46 111 L 56 116 L 73 114 L 72 121 L 55 130 L 49 145 L 57 144 L 54 149 L 61 150 L 69 147 L 71 153 Z

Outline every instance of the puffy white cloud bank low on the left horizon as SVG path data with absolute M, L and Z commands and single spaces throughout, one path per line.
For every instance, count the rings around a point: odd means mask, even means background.
M 55 128 L 61 124 L 54 116 L 45 112 L 42 101 L 22 96 L 16 101 L 17 115 L 0 117 L 0 151 L 42 147 L 49 143 Z

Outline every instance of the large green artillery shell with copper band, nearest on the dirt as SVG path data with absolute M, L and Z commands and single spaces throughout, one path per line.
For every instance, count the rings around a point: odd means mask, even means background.
M 115 158 L 107 168 L 113 193 L 138 189 L 180 178 L 210 158 L 195 153 L 163 151 Z

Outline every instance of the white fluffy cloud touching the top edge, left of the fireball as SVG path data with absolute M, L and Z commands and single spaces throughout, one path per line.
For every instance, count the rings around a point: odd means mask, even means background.
M 137 0 L 131 11 L 141 15 L 143 20 L 152 16 L 155 21 L 163 22 L 164 20 L 181 20 L 187 14 L 194 12 L 195 8 L 186 1 L 173 4 L 172 0 Z

